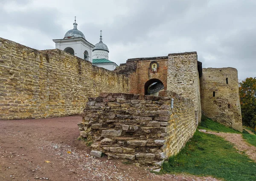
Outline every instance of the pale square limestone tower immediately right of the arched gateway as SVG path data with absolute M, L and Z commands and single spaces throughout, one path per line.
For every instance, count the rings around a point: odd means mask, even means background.
M 198 125 L 201 121 L 201 101 L 197 52 L 168 55 L 167 90 L 193 101 Z

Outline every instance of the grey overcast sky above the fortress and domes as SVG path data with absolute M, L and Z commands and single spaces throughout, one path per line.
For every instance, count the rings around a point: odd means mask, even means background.
M 0 37 L 35 49 L 78 29 L 109 60 L 198 53 L 203 67 L 256 77 L 256 0 L 0 0 Z

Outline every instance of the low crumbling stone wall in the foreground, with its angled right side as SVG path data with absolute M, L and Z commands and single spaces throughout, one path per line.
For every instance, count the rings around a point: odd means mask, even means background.
M 80 135 L 93 141 L 91 155 L 103 152 L 108 159 L 160 166 L 177 154 L 195 132 L 194 104 L 174 92 L 159 95 L 101 93 L 89 98 L 78 126 Z

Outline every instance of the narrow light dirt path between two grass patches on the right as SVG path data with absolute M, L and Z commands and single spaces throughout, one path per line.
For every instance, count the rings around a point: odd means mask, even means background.
M 248 144 L 244 140 L 244 138 L 242 138 L 242 134 L 225 133 L 225 132 L 208 132 L 208 131 L 202 130 L 202 129 L 199 131 L 205 132 L 208 134 L 221 136 L 225 140 L 235 144 L 234 147 L 236 149 L 238 149 L 240 152 L 245 152 L 245 154 L 248 155 L 250 159 L 256 161 L 256 147 Z

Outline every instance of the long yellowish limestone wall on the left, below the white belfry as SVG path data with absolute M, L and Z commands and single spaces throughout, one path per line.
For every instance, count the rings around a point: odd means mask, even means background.
M 87 97 L 129 91 L 125 75 L 58 49 L 38 51 L 0 38 L 0 119 L 79 114 Z

